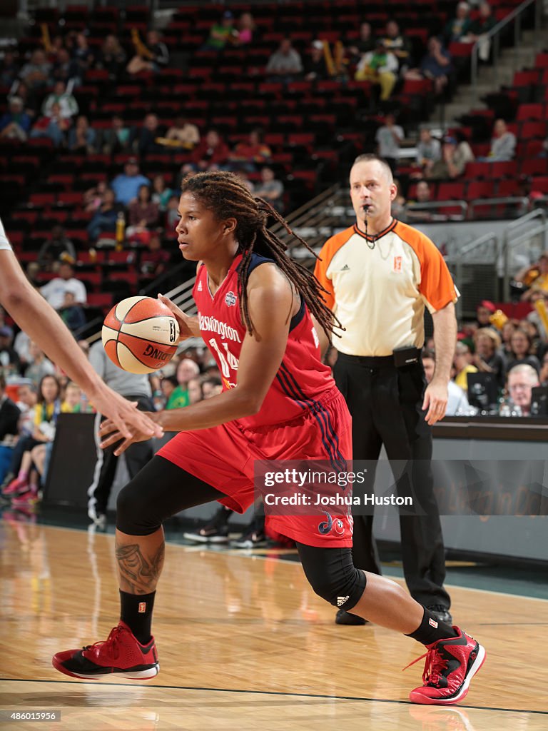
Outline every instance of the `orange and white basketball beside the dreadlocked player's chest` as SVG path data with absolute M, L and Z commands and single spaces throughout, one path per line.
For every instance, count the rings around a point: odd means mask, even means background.
M 157 371 L 177 352 L 179 325 L 170 308 L 152 297 L 128 297 L 104 318 L 104 351 L 128 373 Z

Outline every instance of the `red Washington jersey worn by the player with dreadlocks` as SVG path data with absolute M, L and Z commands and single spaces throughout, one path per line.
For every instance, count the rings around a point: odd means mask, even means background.
M 199 329 L 221 371 L 224 390 L 237 384 L 240 350 L 246 336 L 237 287 L 237 267 L 241 260 L 240 254 L 215 295 L 211 295 L 208 272 L 201 265 L 192 290 L 198 307 Z M 272 261 L 253 254 L 250 272 Z M 332 388 L 335 381 L 331 369 L 321 363 L 318 336 L 301 298 L 300 310 L 290 325 L 281 366 L 259 413 L 238 421 L 247 428 L 256 428 L 287 421 L 305 410 L 316 412 L 319 397 Z

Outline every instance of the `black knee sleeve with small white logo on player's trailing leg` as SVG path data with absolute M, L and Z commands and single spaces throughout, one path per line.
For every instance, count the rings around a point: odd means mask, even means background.
M 316 548 L 297 543 L 302 569 L 314 592 L 350 611 L 365 590 L 365 573 L 352 563 L 351 548 Z

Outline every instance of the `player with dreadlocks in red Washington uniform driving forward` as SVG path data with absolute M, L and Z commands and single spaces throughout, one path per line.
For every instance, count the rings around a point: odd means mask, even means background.
M 53 657 L 53 666 L 74 678 L 158 673 L 151 618 L 164 562 L 164 520 L 214 500 L 246 510 L 254 500 L 254 459 L 351 458 L 349 412 L 321 363 L 313 327 L 317 322 L 330 330 L 332 313 L 319 298 L 318 281 L 265 227 L 268 215 L 285 224 L 281 216 L 235 175 L 221 172 L 183 181 L 179 213 L 180 251 L 200 262 L 194 285 L 199 315 L 187 317 L 161 300 L 178 318 L 182 338 L 204 338 L 224 390 L 185 409 L 151 415 L 165 430 L 179 433 L 119 493 L 121 620 L 106 641 Z M 123 439 L 108 420 L 101 432 L 104 447 Z M 135 430 L 117 451 L 142 439 Z M 324 516 L 272 520 L 297 542 L 316 594 L 426 645 L 425 682 L 411 700 L 452 704 L 465 697 L 484 649 L 457 627 L 437 621 L 396 583 L 354 568 L 351 518 L 332 521 L 337 531 L 326 530 Z

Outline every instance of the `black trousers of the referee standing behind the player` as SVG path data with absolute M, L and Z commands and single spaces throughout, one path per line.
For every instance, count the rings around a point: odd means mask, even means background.
M 339 353 L 333 373 L 352 416 L 354 459 L 378 460 L 384 444 L 390 461 L 413 461 L 406 474 L 411 475 L 411 487 L 426 515 L 400 515 L 403 573 L 417 602 L 449 609 L 451 599 L 443 587 L 444 539 L 430 468 L 432 433 L 421 410 L 426 385 L 422 363 L 395 368 L 392 357 Z M 397 488 L 408 494 L 408 487 L 397 482 Z M 354 515 L 354 565 L 380 574 L 372 529 L 373 515 Z

